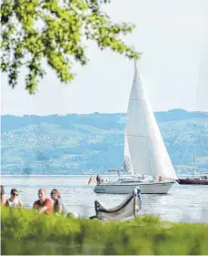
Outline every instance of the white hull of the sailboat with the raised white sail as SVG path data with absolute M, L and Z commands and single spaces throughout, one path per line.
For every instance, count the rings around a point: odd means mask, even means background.
M 129 194 L 137 186 L 142 194 L 166 194 L 173 186 L 174 181 L 168 182 L 134 182 L 134 184 L 99 184 L 94 192 L 99 194 Z

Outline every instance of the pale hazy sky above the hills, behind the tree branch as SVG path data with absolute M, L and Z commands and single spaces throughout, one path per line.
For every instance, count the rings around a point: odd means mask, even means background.
M 125 41 L 144 52 L 138 67 L 154 111 L 208 111 L 208 0 L 112 0 L 104 9 L 115 22 L 136 25 Z M 24 90 L 25 70 L 15 90 L 3 75 L 2 113 L 126 112 L 134 62 L 99 51 L 94 43 L 88 44 L 87 56 L 88 65 L 74 67 L 77 76 L 68 85 L 47 68 L 35 96 Z

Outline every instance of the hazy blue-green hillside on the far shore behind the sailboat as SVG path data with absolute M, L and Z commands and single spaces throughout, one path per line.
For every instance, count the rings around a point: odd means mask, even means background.
M 208 168 L 208 113 L 155 112 L 176 169 Z M 104 173 L 123 165 L 126 115 L 2 116 L 2 174 Z

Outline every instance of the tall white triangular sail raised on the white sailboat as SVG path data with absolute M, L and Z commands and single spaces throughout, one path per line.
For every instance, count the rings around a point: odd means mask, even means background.
M 124 156 L 129 155 L 134 174 L 177 179 L 136 65 L 125 133 Z

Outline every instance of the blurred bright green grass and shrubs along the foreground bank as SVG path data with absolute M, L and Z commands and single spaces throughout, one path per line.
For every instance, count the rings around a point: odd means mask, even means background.
M 2 210 L 2 254 L 208 254 L 208 225 L 137 220 L 100 221 Z

